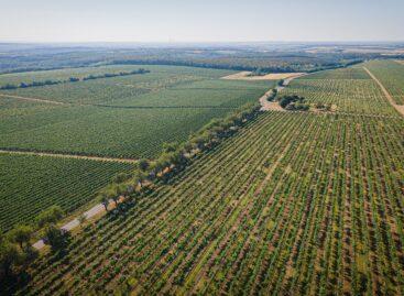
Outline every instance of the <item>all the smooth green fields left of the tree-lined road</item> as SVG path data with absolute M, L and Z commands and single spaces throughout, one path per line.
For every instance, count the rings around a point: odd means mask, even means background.
M 140 67 L 150 73 L 1 90 L 0 150 L 154 157 L 163 143 L 186 140 L 211 119 L 256 101 L 273 85 L 219 79 L 234 73 L 230 70 L 144 65 L 7 74 L 1 75 L 0 85 L 66 80 Z M 114 174 L 133 167 L 6 153 L 0 160 L 0 183 L 7 184 L 0 190 L 3 230 L 33 221 L 51 205 L 70 212 L 88 202 Z

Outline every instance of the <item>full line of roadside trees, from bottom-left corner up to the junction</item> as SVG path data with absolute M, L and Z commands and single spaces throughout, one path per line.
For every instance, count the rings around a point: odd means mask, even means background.
M 116 175 L 108 186 L 97 193 L 97 200 L 103 205 L 107 215 L 119 215 L 134 206 L 138 198 L 152 191 L 157 183 L 168 183 L 198 154 L 212 150 L 237 133 L 260 112 L 258 103 L 248 103 L 226 118 L 211 120 L 185 143 L 165 143 L 157 158 L 142 158 L 131 173 Z M 34 224 L 19 224 L 6 234 L 0 234 L 0 285 L 13 286 L 26 276 L 26 268 L 39 255 L 31 245 L 34 233 L 39 233 L 57 254 L 63 255 L 68 250 L 69 233 L 56 224 L 63 216 L 61 207 L 52 206 L 36 217 Z M 81 215 L 78 220 L 83 223 L 86 217 Z

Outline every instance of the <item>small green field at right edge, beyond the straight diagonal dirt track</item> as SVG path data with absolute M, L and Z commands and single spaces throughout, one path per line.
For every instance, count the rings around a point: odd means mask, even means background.
M 378 77 L 397 105 L 404 105 L 404 64 L 394 61 L 371 61 L 364 66 Z

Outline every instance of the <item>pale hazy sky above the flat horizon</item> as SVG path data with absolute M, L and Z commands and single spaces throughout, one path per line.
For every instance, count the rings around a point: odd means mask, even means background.
M 0 0 L 0 41 L 404 41 L 404 0 Z

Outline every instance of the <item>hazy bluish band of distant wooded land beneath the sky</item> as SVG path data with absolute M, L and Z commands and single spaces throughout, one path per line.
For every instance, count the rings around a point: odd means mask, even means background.
M 365 53 L 310 53 L 306 47 L 287 51 L 254 46 L 222 47 L 57 47 L 0 44 L 0 74 L 97 65 L 176 65 L 271 73 L 316 72 L 346 67 L 369 58 Z M 395 56 L 390 56 L 394 58 Z

